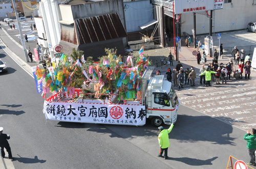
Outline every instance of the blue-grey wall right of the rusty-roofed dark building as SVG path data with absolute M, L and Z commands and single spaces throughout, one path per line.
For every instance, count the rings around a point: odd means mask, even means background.
M 139 26 L 153 19 L 153 7 L 149 0 L 124 2 L 123 5 L 127 33 L 142 31 Z M 148 29 L 154 29 L 154 26 Z

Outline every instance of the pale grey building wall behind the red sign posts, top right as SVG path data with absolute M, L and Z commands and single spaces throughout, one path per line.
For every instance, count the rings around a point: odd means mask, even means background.
M 223 9 L 215 11 L 215 33 L 246 29 L 249 22 L 256 21 L 256 5 L 249 0 L 232 0 L 223 4 Z M 209 33 L 209 17 L 196 14 L 197 34 Z M 214 24 L 214 23 L 213 23 Z M 181 32 L 192 34 L 193 13 L 181 15 Z M 212 30 L 213 31 L 213 30 Z

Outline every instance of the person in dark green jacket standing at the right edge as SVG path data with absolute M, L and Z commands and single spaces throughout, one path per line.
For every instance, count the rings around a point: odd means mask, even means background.
M 247 130 L 244 139 L 247 141 L 247 151 L 250 157 L 250 162 L 247 162 L 247 164 L 255 165 L 256 129 L 252 128 L 250 131 Z

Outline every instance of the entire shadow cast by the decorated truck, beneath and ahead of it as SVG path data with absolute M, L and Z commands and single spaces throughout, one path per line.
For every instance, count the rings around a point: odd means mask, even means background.
M 59 122 L 60 126 L 66 128 L 83 128 L 90 132 L 109 134 L 110 137 L 119 138 L 157 138 L 159 130 L 150 122 L 144 126 L 104 125 L 86 123 Z M 169 125 L 163 125 L 165 129 Z M 230 137 L 233 127 L 227 123 L 209 116 L 178 115 L 177 123 L 169 135 L 170 139 L 176 139 L 181 143 L 210 142 L 211 144 L 233 145 L 234 139 Z

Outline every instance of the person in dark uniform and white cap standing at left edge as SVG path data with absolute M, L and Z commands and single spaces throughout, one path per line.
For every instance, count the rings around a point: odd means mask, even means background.
M 3 133 L 4 128 L 0 127 L 0 147 L 1 147 L 1 156 L 5 158 L 5 150 L 8 152 L 8 158 L 12 159 L 12 152 L 10 145 L 7 141 L 7 139 L 10 139 L 10 135 L 4 134 Z

